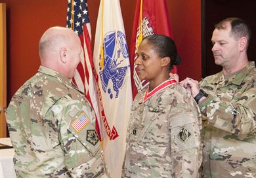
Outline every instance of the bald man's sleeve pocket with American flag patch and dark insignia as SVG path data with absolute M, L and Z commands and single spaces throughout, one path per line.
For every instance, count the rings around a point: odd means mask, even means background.
M 95 126 L 91 124 L 89 118 L 83 111 L 70 112 L 71 122 L 68 124 L 68 130 L 74 137 L 89 151 L 92 156 L 100 149 L 100 141 L 96 134 Z

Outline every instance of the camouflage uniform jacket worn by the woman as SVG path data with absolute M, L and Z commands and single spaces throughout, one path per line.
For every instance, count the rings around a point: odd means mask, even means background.
M 131 108 L 123 177 L 196 177 L 202 162 L 200 110 L 179 84 Z

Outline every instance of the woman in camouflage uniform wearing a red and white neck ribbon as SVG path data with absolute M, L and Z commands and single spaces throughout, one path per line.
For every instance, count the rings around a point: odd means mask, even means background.
M 181 59 L 164 35 L 143 39 L 137 51 L 140 80 L 150 82 L 131 108 L 123 177 L 197 177 L 202 162 L 200 111 L 169 71 Z

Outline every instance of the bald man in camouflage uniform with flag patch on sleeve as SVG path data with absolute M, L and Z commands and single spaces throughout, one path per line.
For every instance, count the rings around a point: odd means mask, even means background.
M 71 29 L 51 27 L 41 66 L 14 94 L 7 123 L 17 177 L 105 177 L 95 114 L 70 80 L 83 49 Z

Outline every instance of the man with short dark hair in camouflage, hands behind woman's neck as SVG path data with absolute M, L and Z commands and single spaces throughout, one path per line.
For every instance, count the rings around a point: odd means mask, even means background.
M 202 177 L 256 177 L 256 69 L 246 52 L 250 36 L 244 20 L 219 22 L 211 41 L 215 63 L 223 70 L 199 84 L 189 78 L 181 82 L 203 115 Z

